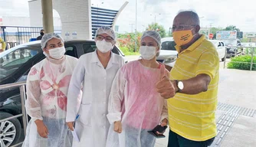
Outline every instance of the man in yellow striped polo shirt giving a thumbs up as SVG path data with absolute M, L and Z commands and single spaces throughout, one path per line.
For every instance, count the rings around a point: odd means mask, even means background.
M 172 97 L 168 100 L 168 147 L 206 147 L 217 134 L 219 58 L 199 30 L 199 16 L 194 11 L 181 11 L 173 21 L 178 58 L 170 80 L 162 77 L 156 85 L 162 97 Z

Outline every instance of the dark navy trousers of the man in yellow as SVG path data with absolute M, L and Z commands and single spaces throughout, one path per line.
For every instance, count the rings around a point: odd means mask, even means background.
M 207 147 L 212 145 L 215 137 L 202 142 L 192 141 L 179 136 L 176 132 L 169 130 L 168 147 Z

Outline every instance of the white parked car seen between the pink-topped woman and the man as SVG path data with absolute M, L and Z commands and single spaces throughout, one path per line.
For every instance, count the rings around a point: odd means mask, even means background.
M 176 43 L 173 41 L 173 38 L 162 38 L 161 42 L 160 54 L 156 57 L 156 60 L 165 64 L 166 68 L 169 69 L 174 66 L 177 59 Z

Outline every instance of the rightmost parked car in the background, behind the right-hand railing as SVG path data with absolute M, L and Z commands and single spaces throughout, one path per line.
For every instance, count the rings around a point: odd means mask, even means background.
M 227 57 L 235 57 L 242 52 L 241 41 L 239 39 L 222 40 L 227 46 Z

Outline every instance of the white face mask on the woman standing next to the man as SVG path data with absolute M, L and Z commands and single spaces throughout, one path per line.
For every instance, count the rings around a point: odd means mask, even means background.
M 145 60 L 151 60 L 156 56 L 156 47 L 140 46 L 139 54 Z

